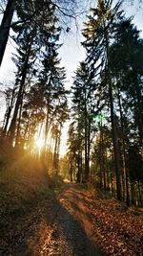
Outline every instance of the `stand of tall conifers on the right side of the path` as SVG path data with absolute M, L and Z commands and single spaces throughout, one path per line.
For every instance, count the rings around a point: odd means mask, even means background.
M 69 172 L 142 205 L 143 39 L 121 4 L 97 1 L 84 23 L 86 58 L 72 84 Z

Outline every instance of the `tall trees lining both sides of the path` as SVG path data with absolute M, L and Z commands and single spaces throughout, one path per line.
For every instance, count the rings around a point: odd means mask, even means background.
M 143 39 L 122 2 L 98 0 L 91 8 L 82 31 L 86 58 L 68 91 L 58 50 L 76 1 L 1 1 L 0 64 L 12 30 L 17 68 L 4 92 L 1 145 L 41 157 L 57 173 L 62 127 L 71 119 L 65 156 L 71 179 L 95 180 L 128 205 L 142 205 Z

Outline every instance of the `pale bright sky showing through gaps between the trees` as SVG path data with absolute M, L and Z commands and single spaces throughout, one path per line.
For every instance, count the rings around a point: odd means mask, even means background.
M 86 0 L 85 0 L 86 1 Z M 94 1 L 93 1 L 94 2 Z M 132 1 L 131 1 L 132 2 Z M 143 2 L 138 5 L 139 0 L 134 0 L 134 4 L 129 4 L 129 1 L 125 1 L 124 11 L 127 16 L 134 15 L 133 23 L 137 26 L 137 29 L 143 31 Z M 79 61 L 84 60 L 85 52 L 80 41 L 82 40 L 80 29 L 82 28 L 83 18 L 78 20 L 78 31 L 75 29 L 75 26 L 71 27 L 69 33 L 65 33 L 62 36 L 61 42 L 63 46 L 60 49 L 59 56 L 61 58 L 62 66 L 66 67 L 67 70 L 67 88 L 70 88 L 72 84 L 72 77 L 75 69 L 77 68 Z M 143 37 L 143 32 L 140 34 Z M 14 49 L 14 43 L 10 39 L 6 49 L 6 53 L 0 68 L 0 90 L 2 86 L 12 86 L 14 83 L 14 71 L 15 66 L 11 60 L 11 52 Z M 3 83 L 3 85 L 1 85 Z M 1 96 L 1 92 L 0 92 Z M 2 122 L 5 114 L 5 102 L 3 97 L 0 97 L 0 122 Z M 0 124 L 1 125 L 1 124 Z M 64 135 L 62 136 L 61 141 L 61 154 L 65 152 L 66 149 L 66 140 L 67 140 L 68 125 L 64 126 Z

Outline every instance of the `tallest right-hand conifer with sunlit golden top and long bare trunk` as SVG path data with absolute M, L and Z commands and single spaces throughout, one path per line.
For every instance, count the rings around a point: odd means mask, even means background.
M 102 74 L 102 80 L 107 84 L 109 102 L 111 107 L 112 143 L 116 172 L 117 198 L 121 200 L 120 166 L 117 134 L 115 128 L 115 115 L 113 104 L 113 87 L 110 65 L 110 46 L 114 35 L 115 24 L 122 18 L 119 8 L 122 1 L 118 1 L 112 8 L 112 1 L 97 1 L 97 8 L 92 9 L 89 21 L 85 23 L 83 30 L 85 41 L 83 46 L 87 50 L 87 61 L 91 69 Z M 104 72 L 103 72 L 104 70 Z

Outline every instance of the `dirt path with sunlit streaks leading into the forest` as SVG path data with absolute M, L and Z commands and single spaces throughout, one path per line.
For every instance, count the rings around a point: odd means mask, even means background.
M 57 198 L 50 221 L 51 233 L 43 244 L 41 255 L 103 255 L 92 241 L 91 220 L 83 199 L 84 194 L 76 184 L 69 184 Z

